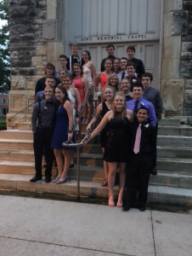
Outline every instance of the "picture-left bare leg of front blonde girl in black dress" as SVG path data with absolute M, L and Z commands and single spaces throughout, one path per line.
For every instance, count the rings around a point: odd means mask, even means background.
M 113 193 L 113 189 L 114 189 L 114 185 L 115 185 L 115 181 L 116 181 L 116 169 L 117 169 L 117 163 L 113 163 L 113 162 L 108 162 L 109 165 L 109 174 L 108 174 L 108 186 L 109 186 L 109 206 L 110 207 L 114 207 L 115 203 L 114 203 L 114 193 Z

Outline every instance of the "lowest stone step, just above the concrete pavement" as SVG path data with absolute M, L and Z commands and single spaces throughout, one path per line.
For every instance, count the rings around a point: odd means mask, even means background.
M 14 191 L 19 194 L 26 192 L 26 195 L 50 195 L 50 196 L 76 196 L 77 187 L 76 180 L 68 181 L 63 184 L 45 183 L 44 180 L 37 183 L 30 183 L 28 175 L 14 175 L 0 173 L 0 187 L 1 190 Z M 148 202 L 156 204 L 172 204 L 190 207 L 192 204 L 192 189 L 168 188 L 166 186 L 149 186 Z M 114 194 L 118 195 L 119 188 L 115 186 Z M 100 183 L 80 182 L 80 196 L 87 196 L 90 198 L 108 199 L 108 188 L 101 187 Z

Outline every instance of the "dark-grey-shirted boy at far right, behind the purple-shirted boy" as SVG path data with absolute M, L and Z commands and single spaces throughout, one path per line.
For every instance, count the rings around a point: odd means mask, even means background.
M 155 116 L 156 116 L 156 125 L 155 125 L 155 138 L 157 138 L 157 131 L 158 131 L 158 122 L 161 120 L 161 113 L 162 113 L 162 100 L 161 94 L 159 90 L 151 87 L 151 83 L 153 81 L 153 76 L 151 73 L 144 73 L 142 75 L 142 84 L 144 85 L 144 96 L 143 98 L 148 102 L 151 102 L 155 108 Z M 157 175 L 156 167 L 156 139 L 155 139 L 155 158 L 153 160 L 152 166 L 152 175 Z

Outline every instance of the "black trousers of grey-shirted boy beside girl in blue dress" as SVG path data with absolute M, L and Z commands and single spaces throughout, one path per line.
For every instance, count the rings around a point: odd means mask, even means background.
M 47 156 L 47 167 L 45 170 L 45 177 L 51 177 L 51 171 L 54 161 L 54 149 L 50 148 L 54 133 L 54 128 L 37 129 L 34 134 L 33 148 L 35 154 L 35 168 L 36 176 L 42 177 L 42 154 Z

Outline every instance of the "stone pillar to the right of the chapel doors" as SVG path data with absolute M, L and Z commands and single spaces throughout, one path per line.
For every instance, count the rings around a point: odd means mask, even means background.
M 164 1 L 161 94 L 166 114 L 192 115 L 191 1 Z M 185 119 L 188 121 L 188 117 Z

